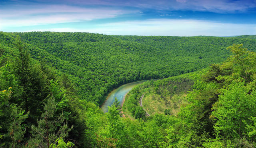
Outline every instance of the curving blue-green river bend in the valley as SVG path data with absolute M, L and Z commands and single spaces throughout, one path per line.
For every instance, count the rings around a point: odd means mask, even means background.
M 116 88 L 115 90 L 110 92 L 108 94 L 108 97 L 106 98 L 106 101 L 101 106 L 102 111 L 104 113 L 108 112 L 108 106 L 111 106 L 114 103 L 115 97 L 122 104 L 123 101 L 124 101 L 126 93 L 130 92 L 130 90 L 132 90 L 132 88 L 134 88 L 134 86 L 136 86 L 138 84 L 142 84 L 143 82 L 146 82 L 146 81 L 148 81 L 148 80 L 124 84 L 124 85 L 120 86 L 119 88 Z

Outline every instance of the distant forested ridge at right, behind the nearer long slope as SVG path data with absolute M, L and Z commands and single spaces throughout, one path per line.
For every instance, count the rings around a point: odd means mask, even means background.
M 212 37 L 212 36 L 195 36 L 195 37 L 172 37 L 172 36 L 114 36 L 125 41 L 132 41 L 150 45 L 164 51 L 174 51 L 176 55 L 190 54 L 190 56 L 200 56 L 200 58 L 222 58 L 223 52 L 227 45 L 243 43 L 244 46 L 255 50 L 253 45 L 255 41 L 250 39 L 238 39 L 239 37 Z M 246 38 L 246 37 L 244 37 Z M 249 38 L 249 37 L 248 37 Z M 228 53 L 226 51 L 225 53 Z M 210 54 L 210 55 L 209 55 Z M 214 54 L 214 56 L 213 56 Z

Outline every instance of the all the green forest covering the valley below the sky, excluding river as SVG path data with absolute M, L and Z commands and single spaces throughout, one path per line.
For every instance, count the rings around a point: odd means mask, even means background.
M 255 51 L 255 35 L 0 32 L 0 147 L 253 148 Z M 102 112 L 139 80 L 151 81 L 126 96 L 131 117 L 117 101 Z

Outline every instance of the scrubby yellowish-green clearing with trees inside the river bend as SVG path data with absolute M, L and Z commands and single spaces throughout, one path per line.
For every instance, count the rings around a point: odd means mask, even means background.
M 178 113 L 180 106 L 187 104 L 185 96 L 193 84 L 193 80 L 187 78 L 189 75 L 174 76 L 156 82 L 153 80 L 144 82 L 128 93 L 124 107 L 127 107 L 134 117 L 137 111 L 136 115 L 141 118 L 144 111 L 138 107 L 138 101 L 144 94 L 143 107 L 150 115 L 155 113 L 175 115 Z

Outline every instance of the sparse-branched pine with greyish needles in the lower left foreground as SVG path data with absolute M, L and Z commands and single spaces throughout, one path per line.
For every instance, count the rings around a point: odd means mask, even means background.
M 56 111 L 56 103 L 51 96 L 47 103 L 44 103 L 44 113 L 41 119 L 37 121 L 38 127 L 32 125 L 32 138 L 28 144 L 32 147 L 50 148 L 50 144 L 56 144 L 58 138 L 65 138 L 68 132 L 73 128 L 68 127 L 68 123 L 64 123 L 64 115 L 60 114 L 57 118 L 54 116 Z

